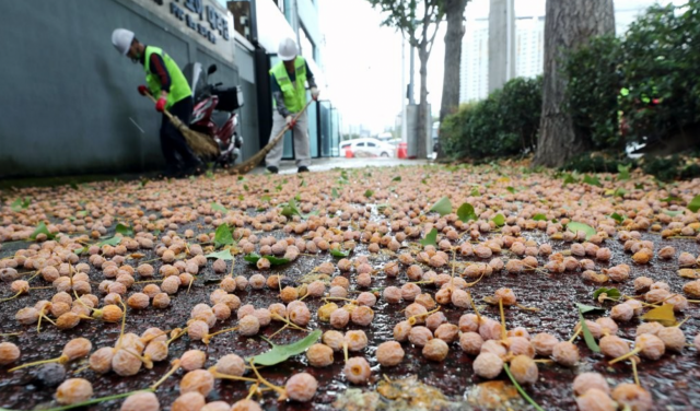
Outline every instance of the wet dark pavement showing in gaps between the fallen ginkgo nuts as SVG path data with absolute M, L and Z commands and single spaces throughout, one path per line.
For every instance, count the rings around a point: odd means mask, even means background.
M 334 167 L 353 167 L 364 166 L 362 164 L 366 160 L 354 158 L 352 161 L 342 160 L 341 162 L 327 162 L 315 163 L 312 166 L 312 171 L 330 169 Z M 382 160 L 372 160 L 372 164 L 384 164 Z M 396 160 L 387 160 L 392 162 L 392 165 L 405 164 Z M 412 163 L 408 163 L 412 164 Z M 282 172 L 289 172 L 294 166 L 284 166 Z M 312 180 L 313 174 L 310 175 L 308 180 Z M 255 214 L 254 210 L 249 211 Z M 376 208 L 372 208 L 373 219 L 381 220 Z M 178 233 L 184 232 L 187 228 L 197 230 L 200 222 L 190 223 L 187 225 L 180 225 Z M 282 231 L 271 233 L 277 238 L 283 238 L 287 236 Z M 491 234 L 494 236 L 497 234 Z M 525 238 L 536 239 L 538 243 L 547 242 L 541 232 L 530 231 L 523 232 Z M 486 237 L 483 237 L 486 238 Z M 482 238 L 482 239 L 483 239 Z M 652 239 L 660 242 L 661 237 L 656 234 L 644 234 L 643 239 Z M 408 246 L 408 243 L 404 244 Z M 563 242 L 552 242 L 555 251 L 565 250 L 570 244 Z M 693 255 L 700 253 L 700 246 L 693 239 L 666 239 L 661 242 L 662 246 L 672 245 L 676 248 L 676 254 L 681 251 L 689 251 Z M 0 250 L 0 258 L 12 255 L 13 250 L 20 247 L 26 247 L 26 243 L 13 243 L 5 244 L 2 250 Z M 606 266 L 614 266 L 618 263 L 630 263 L 630 255 L 626 254 L 622 248 L 622 243 L 616 239 L 606 242 L 606 246 L 612 251 L 612 258 L 609 263 L 596 266 L 602 268 Z M 661 247 L 658 247 L 661 248 Z M 153 256 L 152 253 L 145 253 L 143 260 L 149 260 Z M 370 254 L 366 245 L 359 243 L 358 248 L 352 254 L 352 257 L 368 256 L 372 266 L 377 270 L 390 258 L 387 254 Z M 509 253 L 503 255 L 504 259 L 509 257 Z M 84 258 L 81 260 L 85 260 Z M 547 260 L 546 258 L 538 258 L 540 266 Z M 284 266 L 281 268 L 273 268 L 269 273 L 280 273 L 299 281 L 304 274 L 313 271 L 315 267 L 318 267 L 325 261 L 337 261 L 336 258 L 328 254 L 319 254 L 317 256 L 301 256 L 298 261 Z M 476 257 L 456 257 L 458 262 L 475 262 L 480 261 Z M 483 262 L 488 262 L 485 260 Z M 161 261 L 152 262 L 156 269 L 161 267 Z M 231 262 L 229 262 L 230 265 Z M 207 269 L 202 270 L 201 274 L 197 278 L 189 292 L 180 290 L 173 296 L 171 307 L 166 309 L 154 309 L 149 307 L 141 312 L 128 310 L 127 317 L 127 332 L 135 332 L 140 334 L 149 327 L 160 327 L 161 329 L 174 329 L 177 327 L 185 327 L 189 319 L 190 309 L 198 303 L 209 303 L 209 295 L 212 291 L 218 289 L 218 280 L 222 277 L 214 274 L 211 269 L 212 260 L 208 262 Z M 423 267 L 427 271 L 429 268 Z M 450 273 L 450 268 L 433 269 L 438 273 Z M 676 274 L 677 261 L 663 261 L 654 258 L 654 260 L 646 266 L 633 267 L 633 277 L 646 275 L 655 281 L 667 282 L 672 290 L 679 291 L 686 280 L 679 278 Z M 247 265 L 242 258 L 237 258 L 235 267 L 233 268 L 234 275 L 244 275 L 249 278 L 252 274 L 258 272 L 256 269 Z M 405 272 L 405 268 L 401 269 L 401 273 Z M 354 278 L 355 273 L 341 273 L 336 269 L 334 275 L 343 275 L 350 280 L 352 293 L 358 293 L 360 290 L 355 286 Z M 96 293 L 96 285 L 102 280 L 102 273 L 92 269 L 90 277 L 93 280 L 93 290 Z M 378 271 L 373 278 L 373 290 L 383 290 L 389 285 L 400 286 L 404 283 L 402 280 L 386 278 L 383 271 Z M 9 292 L 9 284 L 1 284 L 2 295 L 7 296 Z M 45 285 L 45 284 L 42 284 Z M 604 286 L 617 286 L 623 294 L 633 295 L 634 290 L 631 281 L 622 284 L 603 284 Z M 144 284 L 136 284 L 132 291 L 140 291 Z M 471 289 L 471 293 L 475 300 L 481 302 L 485 296 L 493 295 L 493 292 L 500 287 L 511 287 L 514 290 L 515 295 L 518 298 L 518 303 L 527 306 L 539 308 L 539 312 L 523 310 L 521 308 L 508 308 L 506 309 L 506 325 L 508 328 L 525 327 L 530 334 L 537 332 L 550 332 L 560 340 L 568 340 L 572 336 L 572 329 L 578 322 L 578 310 L 574 303 L 582 303 L 588 305 L 598 305 L 593 301 L 592 294 L 598 289 L 599 284 L 592 284 L 584 282 L 580 272 L 564 272 L 561 274 L 548 274 L 540 271 L 526 272 L 521 274 L 508 274 L 505 272 L 494 273 L 491 277 L 482 279 L 476 286 Z M 434 293 L 436 289 L 433 285 L 423 285 L 424 292 Z M 119 336 L 118 324 L 104 324 L 98 321 L 86 321 L 81 324 L 73 330 L 59 332 L 50 327 L 43 328 L 40 333 L 37 333 L 36 327 L 20 326 L 14 320 L 14 313 L 24 306 L 34 305 L 39 300 L 50 300 L 54 294 L 54 290 L 32 290 L 30 295 L 21 296 L 11 302 L 2 303 L 2 310 L 0 312 L 0 332 L 18 332 L 23 333 L 19 337 L 3 338 L 3 341 L 11 341 L 18 344 L 22 349 L 21 362 L 32 362 L 38 360 L 45 360 L 50 357 L 57 357 L 60 355 L 61 349 L 66 342 L 71 338 L 85 337 L 93 343 L 93 351 L 102 347 L 113 347 Z M 252 291 L 248 289 L 246 292 L 235 292 L 235 294 L 242 300 L 243 304 L 253 304 L 256 308 L 267 307 L 272 303 L 278 303 L 279 297 L 276 292 L 270 292 L 267 287 L 262 291 Z M 351 294 L 353 295 L 353 294 Z M 305 302 L 314 313 L 324 303 L 317 298 L 306 298 Z M 404 343 L 404 350 L 406 351 L 406 357 L 404 362 L 397 367 L 383 367 L 375 359 L 376 345 L 384 341 L 393 339 L 393 328 L 400 320 L 405 319 L 404 314 L 400 312 L 402 305 L 393 306 L 386 304 L 382 298 L 377 298 L 377 304 L 374 307 L 375 317 L 370 327 L 359 327 L 355 325 L 349 325 L 347 328 L 364 330 L 370 339 L 369 347 L 351 355 L 362 355 L 372 365 L 372 383 L 360 387 L 363 389 L 374 389 L 376 384 L 384 376 L 390 379 L 402 378 L 409 375 L 417 375 L 419 379 L 425 384 L 440 388 L 448 398 L 453 401 L 462 403 L 459 409 L 474 409 L 486 410 L 486 407 L 474 406 L 467 403 L 467 392 L 480 383 L 485 383 L 485 379 L 479 378 L 474 374 L 471 364 L 474 357 L 465 354 L 459 350 L 457 343 L 451 344 L 451 352 L 447 360 L 443 363 L 434 363 L 425 361 L 421 354 L 421 350 L 412 347 L 410 343 Z M 479 305 L 481 314 L 493 319 L 499 319 L 498 307 L 489 306 L 483 303 Z M 606 306 L 610 308 L 610 305 Z M 697 304 L 691 304 L 690 308 L 682 313 L 684 316 L 688 316 L 689 319 L 682 326 L 686 336 L 695 337 L 700 331 L 700 312 L 697 309 Z M 466 310 L 466 312 L 471 312 Z M 443 313 L 452 324 L 457 324 L 459 317 L 465 314 L 465 310 L 457 309 L 453 306 L 445 306 Z M 588 319 L 595 319 L 599 315 L 588 315 Z M 680 316 L 679 316 L 680 317 Z M 237 320 L 235 314 L 223 322 L 218 322 L 215 328 L 211 331 L 224 329 L 235 326 Z M 638 319 L 627 324 L 620 324 L 620 332 L 618 336 L 628 340 L 634 340 L 634 329 L 639 325 Z M 269 327 L 264 329 L 261 334 L 270 336 L 280 328 L 280 325 L 272 322 Z M 312 321 L 308 325 L 310 329 L 331 329 L 328 324 L 317 321 L 315 315 L 312 316 Z M 289 343 L 296 341 L 305 336 L 302 331 L 285 330 L 281 334 L 275 338 L 275 342 Z M 573 378 L 575 375 L 595 371 L 605 375 L 610 385 L 615 386 L 620 383 L 632 383 L 632 374 L 629 363 L 619 363 L 614 366 L 607 364 L 604 361 L 602 354 L 595 354 L 590 352 L 585 344 L 579 340 L 578 347 L 581 350 L 582 361 L 574 368 L 565 368 L 556 364 L 540 364 L 539 365 L 539 380 L 527 386 L 526 390 L 546 410 L 576 410 L 573 392 L 571 389 Z M 240 337 L 235 332 L 225 333 L 215 337 L 209 345 L 205 345 L 200 341 L 191 341 L 187 337 L 176 340 L 171 344 L 170 359 L 176 359 L 187 350 L 202 350 L 208 354 L 208 361 L 206 367 L 214 365 L 215 361 L 228 354 L 236 353 L 241 356 L 250 356 L 259 354 L 269 349 L 269 345 L 260 338 L 244 338 Z M 655 410 L 667 411 L 685 411 L 700 409 L 700 353 L 695 352 L 692 348 L 686 348 L 682 355 L 666 354 L 662 360 L 656 362 L 642 361 L 639 366 L 640 378 L 642 385 L 646 387 L 653 395 L 655 401 Z M 127 392 L 130 390 L 141 389 L 148 387 L 150 384 L 160 378 L 168 368 L 167 362 L 156 363 L 153 369 L 142 369 L 137 376 L 129 378 L 121 378 L 114 373 L 98 376 L 90 369 L 85 369 L 86 361 L 78 361 L 67 365 L 70 377 L 88 378 L 92 381 L 95 397 L 103 397 L 108 395 Z M 307 372 L 316 377 L 319 381 L 319 389 L 314 398 L 313 404 L 303 404 L 295 402 L 277 402 L 271 395 L 266 395 L 264 399 L 264 409 L 266 410 L 331 410 L 331 403 L 342 394 L 348 385 L 345 376 L 342 375 L 342 354 L 336 354 L 336 361 L 330 367 L 326 368 L 313 368 L 308 366 L 305 356 L 298 355 L 283 364 L 273 367 L 267 367 L 264 369 L 264 375 L 271 383 L 277 385 L 283 385 L 285 379 L 299 372 Z M 161 401 L 162 409 L 168 410 L 170 404 L 178 397 L 178 381 L 179 377 L 184 375 L 183 371 L 178 371 L 174 377 L 170 378 L 158 391 L 158 397 Z M 501 375 L 501 380 L 506 378 Z M 208 401 L 224 400 L 229 403 L 235 402 L 238 399 L 247 396 L 247 389 L 249 385 L 238 381 L 222 381 L 218 380 L 213 392 L 208 397 Z M 357 386 L 352 386 L 358 388 Z M 51 402 L 54 396 L 52 388 L 45 388 L 33 378 L 32 369 L 23 369 L 13 374 L 8 374 L 4 369 L 0 371 L 0 407 L 13 410 L 31 410 L 55 407 L 55 402 Z M 464 401 L 464 402 L 463 402 Z M 119 409 L 121 400 L 108 401 L 97 406 L 88 408 L 89 410 L 117 410 Z M 532 409 L 529 406 L 521 409 Z

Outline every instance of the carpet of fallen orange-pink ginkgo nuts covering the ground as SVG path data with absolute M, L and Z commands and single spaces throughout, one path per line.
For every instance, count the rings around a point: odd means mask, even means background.
M 698 195 L 518 163 L 8 190 L 0 407 L 698 409 Z

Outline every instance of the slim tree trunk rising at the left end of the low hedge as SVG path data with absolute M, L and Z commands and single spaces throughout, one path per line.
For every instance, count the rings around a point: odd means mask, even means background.
M 442 83 L 440 122 L 459 108 L 459 78 L 462 66 L 462 38 L 465 34 L 464 11 L 468 0 L 445 0 L 447 33 L 445 34 L 445 71 Z M 438 157 L 443 156 L 442 145 L 438 146 Z

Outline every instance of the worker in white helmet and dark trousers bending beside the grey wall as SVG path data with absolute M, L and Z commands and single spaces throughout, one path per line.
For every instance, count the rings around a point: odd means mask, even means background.
M 141 95 L 150 93 L 158 99 L 155 110 L 168 110 L 188 125 L 192 115 L 192 92 L 177 63 L 162 49 L 141 44 L 133 32 L 126 28 L 112 33 L 112 44 L 121 55 L 143 66 L 147 85 L 139 85 L 138 90 Z M 184 177 L 203 168 L 185 137 L 165 115 L 161 124 L 161 149 L 166 162 L 166 176 Z

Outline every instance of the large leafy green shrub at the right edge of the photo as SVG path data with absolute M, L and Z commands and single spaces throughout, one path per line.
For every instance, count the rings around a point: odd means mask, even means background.
M 628 140 L 663 138 L 700 121 L 700 0 L 652 5 L 632 23 L 622 47 L 620 95 Z

